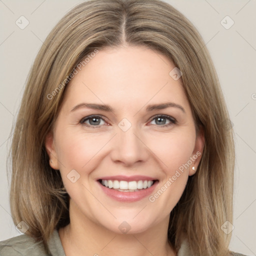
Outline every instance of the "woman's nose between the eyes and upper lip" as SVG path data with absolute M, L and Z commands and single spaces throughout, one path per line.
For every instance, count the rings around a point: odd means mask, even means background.
M 144 136 L 135 126 L 131 126 L 127 131 L 118 128 L 110 153 L 112 161 L 122 163 L 124 166 L 145 162 L 150 150 L 144 140 Z

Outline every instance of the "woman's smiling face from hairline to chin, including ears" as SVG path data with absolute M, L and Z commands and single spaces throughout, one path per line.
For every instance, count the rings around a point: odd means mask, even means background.
M 118 233 L 168 222 L 203 147 L 174 67 L 125 46 L 76 68 L 45 143 L 72 216 Z

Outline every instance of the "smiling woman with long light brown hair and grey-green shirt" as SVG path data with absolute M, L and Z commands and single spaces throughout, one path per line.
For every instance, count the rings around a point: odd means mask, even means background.
M 1 255 L 234 255 L 227 120 L 204 43 L 176 9 L 77 5 L 27 81 L 10 192 L 26 234 Z

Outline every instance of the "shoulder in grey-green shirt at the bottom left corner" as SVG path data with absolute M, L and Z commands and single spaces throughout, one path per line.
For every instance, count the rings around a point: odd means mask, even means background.
M 18 235 L 4 241 L 0 241 L 1 256 L 47 256 L 41 242 L 36 242 L 34 238 L 27 234 Z

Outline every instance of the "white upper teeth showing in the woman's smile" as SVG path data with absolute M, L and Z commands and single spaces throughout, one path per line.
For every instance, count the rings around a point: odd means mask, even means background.
M 125 180 L 106 180 L 102 179 L 101 184 L 108 188 L 114 188 L 119 191 L 138 191 L 138 189 L 145 189 L 153 184 L 153 180 L 138 180 L 138 181 L 125 181 Z

